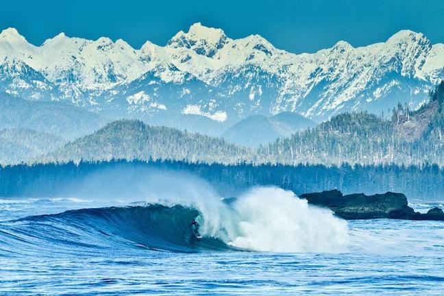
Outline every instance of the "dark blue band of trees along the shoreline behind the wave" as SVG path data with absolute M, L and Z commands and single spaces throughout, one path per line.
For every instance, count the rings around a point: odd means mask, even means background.
M 251 186 L 279 186 L 297 195 L 337 188 L 344 194 L 404 193 L 409 200 L 444 200 L 444 169 L 437 165 L 423 166 L 342 164 L 204 164 L 169 160 L 79 162 L 75 164 L 19 164 L 0 168 L 1 197 L 51 197 L 75 192 L 97 173 L 106 175 L 97 188 L 119 181 L 143 177 L 146 169 L 180 171 L 206 180 L 223 197 L 236 195 Z M 173 185 L 173 184 L 172 184 Z M 127 186 L 132 186 L 127 184 Z

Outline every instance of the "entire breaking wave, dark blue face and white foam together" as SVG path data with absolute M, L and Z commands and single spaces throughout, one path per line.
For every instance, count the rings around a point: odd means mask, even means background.
M 202 238 L 190 222 L 196 219 Z M 196 251 L 344 251 L 347 224 L 280 188 L 254 188 L 212 204 L 68 210 L 0 223 L 4 251 L 147 248 Z

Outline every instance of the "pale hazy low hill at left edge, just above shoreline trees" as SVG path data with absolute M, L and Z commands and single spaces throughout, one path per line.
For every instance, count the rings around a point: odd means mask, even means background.
M 31 161 L 64 145 L 65 141 L 53 134 L 34 130 L 0 130 L 0 164 Z

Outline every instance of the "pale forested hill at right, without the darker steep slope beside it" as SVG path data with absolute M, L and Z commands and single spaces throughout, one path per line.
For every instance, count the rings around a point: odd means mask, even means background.
M 380 163 L 389 161 L 396 140 L 388 121 L 365 112 L 345 113 L 262 147 L 259 154 L 264 162 L 285 164 Z

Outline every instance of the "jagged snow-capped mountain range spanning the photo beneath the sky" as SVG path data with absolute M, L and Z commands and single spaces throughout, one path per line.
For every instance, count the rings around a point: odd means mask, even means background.
M 288 53 L 258 35 L 232 39 L 195 23 L 164 47 L 63 33 L 34 46 L 0 34 L 0 90 L 29 100 L 71 101 L 108 116 L 206 116 L 235 122 L 297 112 L 322 121 L 345 111 L 412 108 L 444 79 L 444 45 L 421 33 L 354 48 Z

